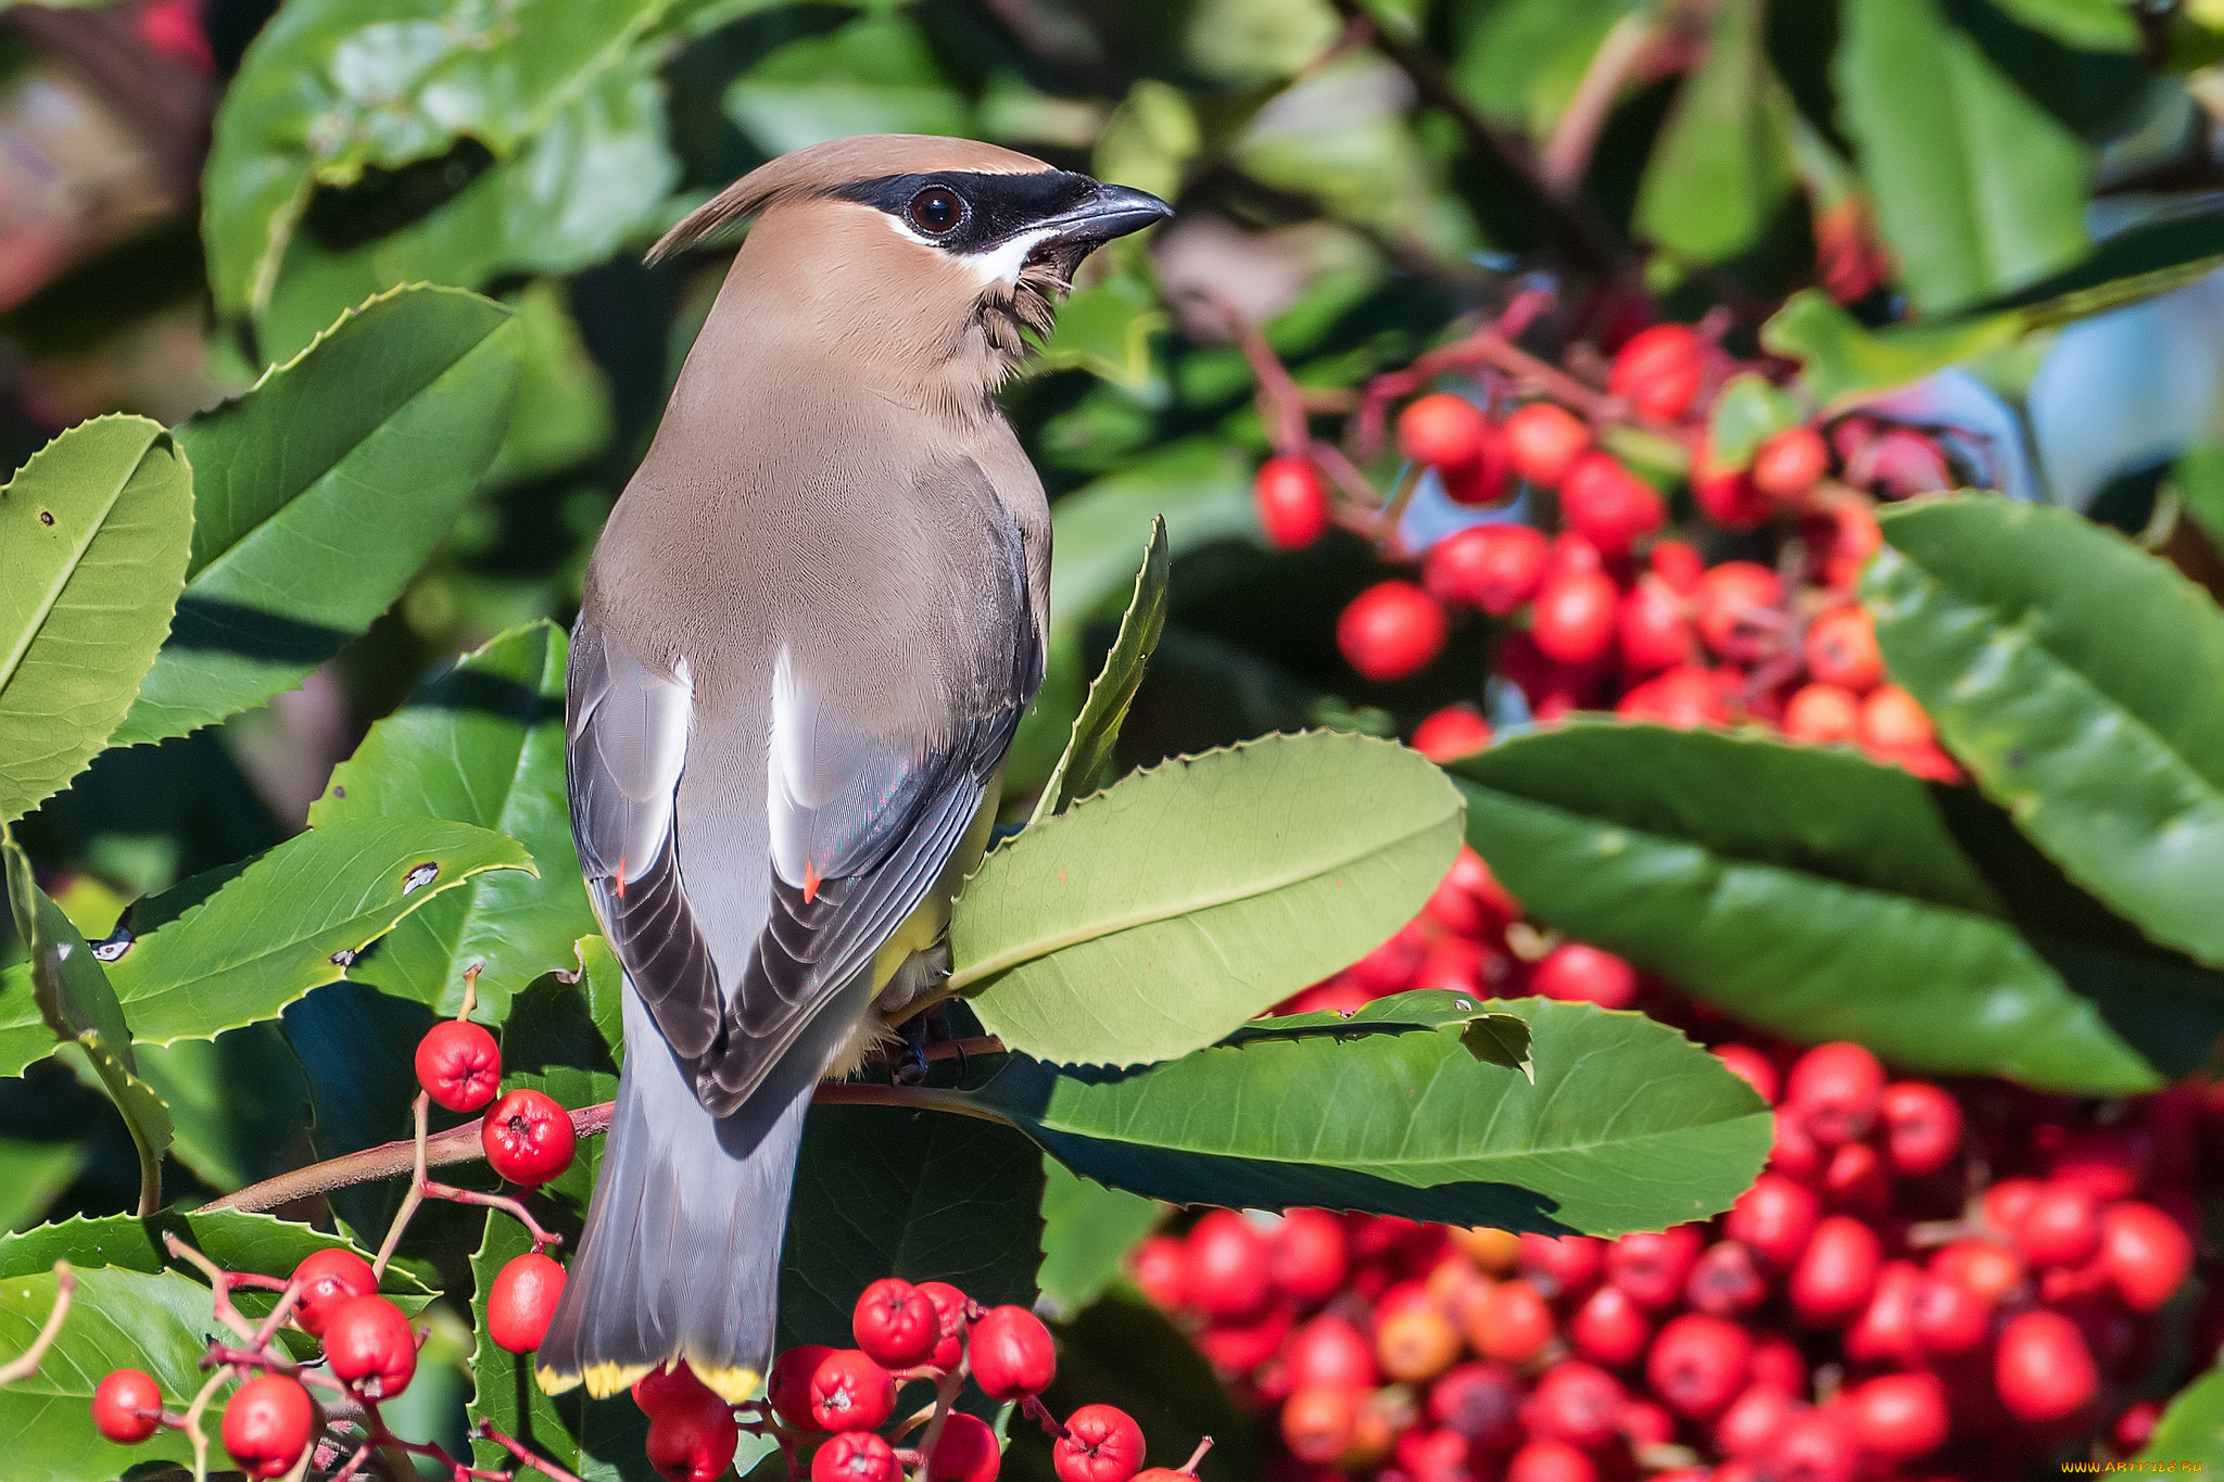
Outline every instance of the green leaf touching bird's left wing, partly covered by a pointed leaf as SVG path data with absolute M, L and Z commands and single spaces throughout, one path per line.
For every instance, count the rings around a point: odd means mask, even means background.
M 596 931 L 572 851 L 563 782 L 563 629 L 536 622 L 467 653 L 371 727 L 309 807 L 309 827 L 423 813 L 496 829 L 538 873 L 485 875 L 431 902 L 349 973 L 443 1015 L 478 975 L 476 1018 L 498 1024 L 509 995 L 572 960 Z

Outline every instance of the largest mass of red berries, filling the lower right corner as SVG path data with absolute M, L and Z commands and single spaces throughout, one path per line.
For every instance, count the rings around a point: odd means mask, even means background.
M 1770 1102 L 1768 1169 L 1719 1220 L 1619 1240 L 1317 1209 L 1152 1238 L 1136 1282 L 1279 1415 L 1292 1482 L 2006 1480 L 2137 1451 L 2153 1395 L 2224 1342 L 2224 1298 L 2191 1358 L 2157 1320 L 2224 1098 L 1946 1089 L 1859 1044 L 1755 1044 L 1519 915 L 1461 853 L 1417 922 L 1279 1011 L 1417 987 L 1641 1004 Z

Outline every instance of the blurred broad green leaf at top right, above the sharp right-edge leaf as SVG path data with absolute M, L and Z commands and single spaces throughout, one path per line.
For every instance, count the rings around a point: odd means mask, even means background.
M 1844 27 L 1839 127 L 1917 309 L 1959 309 L 2088 251 L 2084 147 L 1937 0 L 1850 0 Z

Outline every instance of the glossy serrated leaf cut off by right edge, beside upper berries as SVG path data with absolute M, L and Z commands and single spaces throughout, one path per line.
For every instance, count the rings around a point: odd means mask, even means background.
M 2224 611 L 2066 509 L 1884 513 L 1877 642 L 1970 769 L 2084 889 L 2224 967 Z

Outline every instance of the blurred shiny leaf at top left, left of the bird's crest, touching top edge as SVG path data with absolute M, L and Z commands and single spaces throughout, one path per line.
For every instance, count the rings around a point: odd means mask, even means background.
M 320 0 L 262 27 L 216 116 L 202 236 L 216 311 L 260 313 L 316 187 L 480 142 L 523 151 L 669 9 L 663 0 Z

